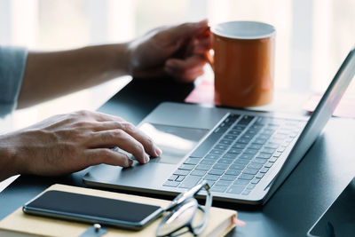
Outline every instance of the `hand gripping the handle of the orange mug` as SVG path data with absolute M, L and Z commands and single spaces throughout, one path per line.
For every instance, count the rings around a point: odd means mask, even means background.
M 192 82 L 203 75 L 204 56 L 211 48 L 207 20 L 176 27 L 156 28 L 129 43 L 130 75 L 157 77 L 170 75 Z

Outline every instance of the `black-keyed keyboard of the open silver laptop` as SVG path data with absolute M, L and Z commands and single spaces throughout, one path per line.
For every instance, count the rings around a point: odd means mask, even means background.
M 248 195 L 304 125 L 298 120 L 228 115 L 163 186 L 191 188 L 205 179 L 212 192 Z

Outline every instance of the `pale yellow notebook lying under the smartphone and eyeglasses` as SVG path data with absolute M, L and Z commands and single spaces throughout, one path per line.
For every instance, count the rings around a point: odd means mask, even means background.
M 94 190 L 90 188 L 54 185 L 48 190 L 59 190 L 71 192 L 75 194 L 89 194 L 99 197 L 119 199 L 124 201 L 136 201 L 166 207 L 170 201 L 130 195 L 118 194 L 107 191 Z M 199 212 L 200 214 L 200 212 Z M 201 214 L 202 215 L 202 214 Z M 237 212 L 231 209 L 211 208 L 209 214 L 208 225 L 201 236 L 225 236 L 235 226 Z M 105 236 L 155 236 L 155 229 L 160 223 L 162 217 L 155 220 L 152 224 L 147 225 L 141 231 L 129 231 L 116 228 L 107 228 Z M 49 217 L 36 217 L 23 213 L 22 209 L 15 210 L 8 217 L 4 217 L 0 221 L 0 236 L 79 236 L 91 225 L 76 223 L 74 221 L 66 221 L 60 219 L 52 219 Z M 185 234 L 182 236 L 193 236 Z

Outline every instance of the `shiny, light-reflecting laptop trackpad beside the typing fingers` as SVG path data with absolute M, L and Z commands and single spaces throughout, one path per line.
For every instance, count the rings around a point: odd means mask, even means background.
M 143 123 L 139 128 L 153 138 L 155 144 L 162 149 L 162 156 L 150 162 L 170 164 L 180 162 L 209 131 L 148 122 Z

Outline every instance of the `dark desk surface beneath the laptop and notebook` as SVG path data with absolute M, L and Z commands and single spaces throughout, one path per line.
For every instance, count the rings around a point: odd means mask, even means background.
M 138 123 L 163 100 L 183 102 L 192 84 L 133 81 L 100 112 Z M 305 236 L 355 176 L 355 120 L 333 118 L 280 189 L 264 207 L 214 203 L 237 209 L 247 222 L 231 236 Z M 65 177 L 20 176 L 0 193 L 0 219 L 52 184 L 84 186 L 83 170 Z

